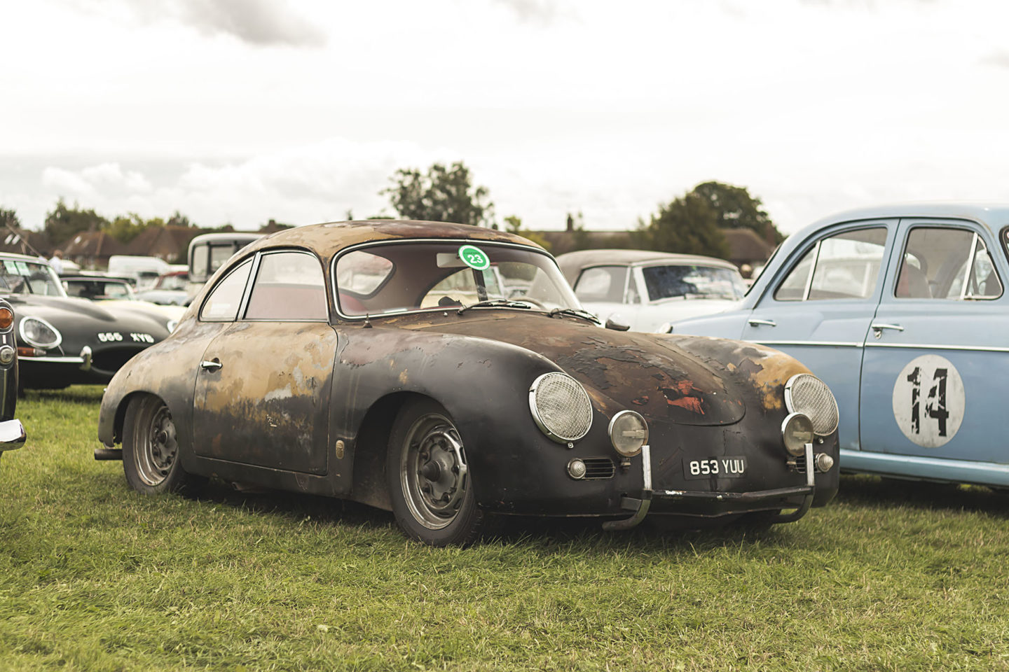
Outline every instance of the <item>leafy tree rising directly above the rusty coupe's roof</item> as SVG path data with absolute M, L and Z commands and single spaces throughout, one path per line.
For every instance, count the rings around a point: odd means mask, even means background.
M 400 217 L 431 222 L 455 222 L 493 227 L 493 204 L 487 200 L 485 186 L 473 186 L 472 177 L 462 161 L 446 168 L 435 163 L 422 174 L 416 168 L 400 168 L 382 189 Z

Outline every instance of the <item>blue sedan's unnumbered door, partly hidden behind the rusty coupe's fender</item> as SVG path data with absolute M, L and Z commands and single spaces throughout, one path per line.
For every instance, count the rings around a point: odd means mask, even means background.
M 833 392 L 842 448 L 859 447 L 859 370 L 897 220 L 840 225 L 796 249 L 769 284 L 742 339 L 784 351 Z

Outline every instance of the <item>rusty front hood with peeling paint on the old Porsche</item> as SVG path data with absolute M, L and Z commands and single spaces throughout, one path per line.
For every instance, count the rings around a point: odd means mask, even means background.
M 542 355 L 577 379 L 609 413 L 630 408 L 646 417 L 695 425 L 733 424 L 746 413 L 736 377 L 672 340 L 542 313 L 487 313 L 415 328 L 491 339 Z

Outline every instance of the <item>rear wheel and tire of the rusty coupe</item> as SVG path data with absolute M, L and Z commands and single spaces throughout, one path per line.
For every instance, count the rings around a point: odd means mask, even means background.
M 196 483 L 183 469 L 176 424 L 157 397 L 134 397 L 126 407 L 123 472 L 126 483 L 143 495 L 183 492 Z

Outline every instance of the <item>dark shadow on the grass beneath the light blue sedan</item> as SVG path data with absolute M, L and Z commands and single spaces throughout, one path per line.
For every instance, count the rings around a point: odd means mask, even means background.
M 1009 492 L 984 486 L 843 476 L 834 500 L 854 506 L 969 511 L 1009 519 Z

